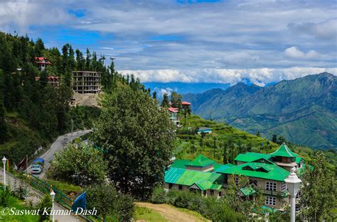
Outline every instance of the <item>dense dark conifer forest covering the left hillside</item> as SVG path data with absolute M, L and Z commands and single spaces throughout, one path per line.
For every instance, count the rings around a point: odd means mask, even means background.
M 84 54 L 65 44 L 60 52 L 46 48 L 41 39 L 0 32 L 0 52 L 0 155 L 12 164 L 69 132 L 72 124 L 74 130 L 91 128 L 92 120 L 100 116 L 100 109 L 70 106 L 73 70 L 102 72 L 102 89 L 107 93 L 117 84 L 146 91 L 139 79 L 116 72 L 113 59 L 105 65 L 105 57 L 89 49 Z M 36 57 L 52 63 L 48 72 L 38 71 Z M 48 84 L 48 76 L 60 77 L 60 86 Z

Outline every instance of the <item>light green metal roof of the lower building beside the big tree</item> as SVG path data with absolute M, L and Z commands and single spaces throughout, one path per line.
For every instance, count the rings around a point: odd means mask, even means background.
M 191 187 L 196 184 L 201 190 L 221 189 L 223 174 L 214 172 L 203 172 L 196 170 L 184 170 L 171 167 L 165 172 L 165 182 Z

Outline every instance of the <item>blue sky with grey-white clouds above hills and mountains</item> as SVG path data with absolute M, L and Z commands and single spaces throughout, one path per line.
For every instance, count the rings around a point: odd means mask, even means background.
M 337 74 L 336 0 L 0 0 L 0 31 L 90 48 L 142 82 Z

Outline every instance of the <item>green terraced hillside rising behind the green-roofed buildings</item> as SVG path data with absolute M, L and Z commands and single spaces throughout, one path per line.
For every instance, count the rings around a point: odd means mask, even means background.
M 180 117 L 181 123 L 184 123 L 183 116 Z M 198 135 L 196 129 L 202 126 L 212 128 L 213 133 L 205 135 L 204 137 Z M 269 141 L 266 138 L 240 131 L 225 123 L 208 121 L 196 115 L 188 116 L 186 119 L 186 126 L 178 129 L 176 135 L 176 148 L 173 151 L 173 155 L 178 159 L 193 160 L 193 158 L 202 154 L 217 162 L 223 162 L 223 147 L 225 147 L 226 152 L 228 152 L 227 155 L 233 155 L 234 157 L 239 153 L 248 151 L 269 153 L 277 150 L 279 147 L 279 144 L 272 143 L 272 141 Z M 227 145 L 229 138 L 231 138 L 234 143 L 231 149 L 228 148 Z M 291 150 L 301 157 L 304 157 L 307 161 L 310 161 L 311 157 L 314 155 L 314 150 L 310 148 L 294 145 L 293 143 L 287 143 L 287 145 Z M 229 150 L 233 150 L 233 154 L 231 154 Z M 334 168 L 337 164 L 336 152 L 326 151 L 324 154 L 330 163 L 330 167 Z

